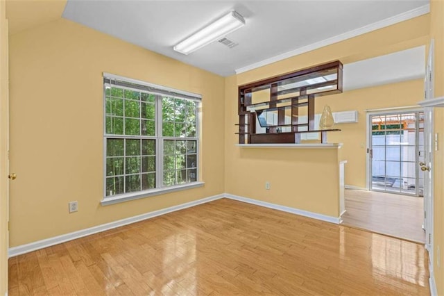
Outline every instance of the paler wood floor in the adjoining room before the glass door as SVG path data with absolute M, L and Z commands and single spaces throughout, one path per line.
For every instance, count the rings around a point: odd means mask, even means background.
M 343 225 L 425 242 L 422 197 L 346 189 L 345 210 Z

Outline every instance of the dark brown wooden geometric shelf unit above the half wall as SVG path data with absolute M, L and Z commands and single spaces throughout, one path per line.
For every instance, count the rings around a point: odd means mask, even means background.
M 239 86 L 239 144 L 299 143 L 302 133 L 321 133 L 321 142 L 327 142 L 327 132 L 340 130 L 315 130 L 314 102 L 342 92 L 342 68 L 336 60 Z M 298 118 L 302 115 L 304 123 Z M 306 131 L 299 131 L 302 126 Z M 258 133 L 263 129 L 267 133 Z

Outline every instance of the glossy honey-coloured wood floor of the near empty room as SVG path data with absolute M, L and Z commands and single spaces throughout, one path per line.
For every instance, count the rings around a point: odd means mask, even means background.
M 9 295 L 429 295 L 422 246 L 219 199 L 24 254 Z

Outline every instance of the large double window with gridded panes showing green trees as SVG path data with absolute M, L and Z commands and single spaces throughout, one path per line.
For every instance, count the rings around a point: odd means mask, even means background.
M 198 181 L 200 96 L 104 74 L 105 198 Z

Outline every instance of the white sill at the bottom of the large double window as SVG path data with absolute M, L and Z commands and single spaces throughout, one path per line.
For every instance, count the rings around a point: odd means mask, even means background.
M 167 188 L 156 188 L 153 190 L 147 190 L 145 192 L 136 192 L 136 193 L 128 193 L 125 195 L 119 195 L 116 197 L 105 197 L 101 200 L 102 206 L 108 206 L 110 204 L 118 204 L 120 202 L 128 202 L 133 199 L 141 199 L 145 197 L 151 197 L 154 195 L 163 195 L 165 193 L 169 192 L 176 192 L 180 190 L 187 190 L 191 188 L 198 188 L 203 187 L 205 185 L 205 182 L 193 182 L 188 184 L 182 184 L 182 185 L 176 185 L 176 186 L 170 186 Z

